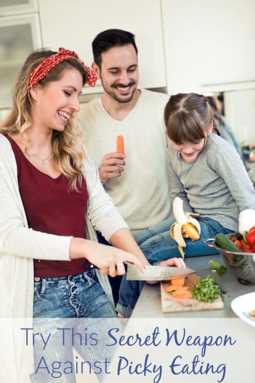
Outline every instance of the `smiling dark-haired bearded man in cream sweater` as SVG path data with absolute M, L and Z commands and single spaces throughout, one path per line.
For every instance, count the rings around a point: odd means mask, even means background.
M 135 234 L 171 213 L 163 122 L 169 97 L 137 88 L 134 34 L 106 30 L 92 49 L 92 69 L 104 93 L 84 106 L 85 143 L 106 192 Z M 124 137 L 125 155 L 116 153 L 117 135 Z

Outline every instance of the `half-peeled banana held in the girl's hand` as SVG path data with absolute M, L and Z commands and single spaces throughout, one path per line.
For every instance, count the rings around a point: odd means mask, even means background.
M 189 238 L 192 240 L 200 239 L 200 224 L 191 215 L 199 215 L 196 213 L 184 213 L 183 211 L 183 200 L 179 197 L 174 198 L 173 200 L 173 215 L 176 222 L 170 227 L 170 235 L 172 239 L 178 243 L 178 250 L 181 253 L 182 259 L 184 259 L 183 247 L 186 247 L 186 243 L 183 238 L 182 230 L 185 229 Z

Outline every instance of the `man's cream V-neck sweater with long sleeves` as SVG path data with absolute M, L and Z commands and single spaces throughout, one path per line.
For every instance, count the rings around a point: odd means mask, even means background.
M 123 135 L 126 165 L 120 177 L 104 184 L 133 234 L 171 214 L 164 108 L 169 96 L 140 89 L 133 109 L 122 120 L 112 118 L 98 98 L 79 113 L 85 144 L 97 167 L 103 156 L 116 151 Z

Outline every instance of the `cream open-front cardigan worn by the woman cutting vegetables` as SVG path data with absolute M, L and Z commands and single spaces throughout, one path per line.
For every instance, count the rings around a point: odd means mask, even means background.
M 127 225 L 105 193 L 94 163 L 87 158 L 86 238 L 97 241 L 96 228 L 109 240 Z M 0 134 L 0 375 L 8 381 L 10 371 L 12 381 L 19 377 L 19 382 L 29 382 L 28 374 L 33 372 L 33 350 L 25 345 L 25 332 L 17 331 L 32 326 L 33 258 L 69 260 L 71 238 L 28 229 L 15 156 L 7 138 Z M 113 304 L 107 277 L 99 271 L 97 278 Z M 21 376 L 27 378 L 21 380 Z

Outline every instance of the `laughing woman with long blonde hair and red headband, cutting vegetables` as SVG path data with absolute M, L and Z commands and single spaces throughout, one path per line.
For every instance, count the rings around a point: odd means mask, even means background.
M 82 87 L 95 81 L 64 48 L 32 52 L 17 76 L 0 127 L 2 318 L 33 317 L 39 324 L 38 318 L 114 318 L 106 276 L 123 275 L 124 262 L 141 271 L 148 264 L 104 192 L 75 123 Z M 93 227 L 112 246 L 98 244 Z M 101 272 L 87 270 L 86 261 Z M 33 371 L 32 350 L 26 332 L 13 329 L 10 321 L 3 331 L 3 364 L 21 377 Z

